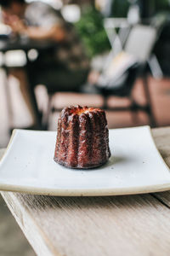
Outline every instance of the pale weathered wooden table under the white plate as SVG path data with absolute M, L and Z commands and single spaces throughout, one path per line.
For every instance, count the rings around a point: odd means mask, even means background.
M 170 127 L 152 132 L 170 166 Z M 1 194 L 38 255 L 170 255 L 170 192 L 106 197 Z

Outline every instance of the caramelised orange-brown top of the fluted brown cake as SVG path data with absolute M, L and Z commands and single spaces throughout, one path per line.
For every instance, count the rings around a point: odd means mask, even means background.
M 61 111 L 61 116 L 65 114 L 67 115 L 77 114 L 80 116 L 82 113 L 90 113 L 90 112 L 104 113 L 105 111 L 100 108 L 88 108 L 87 106 L 81 107 L 77 105 L 77 106 L 70 106 L 70 107 L 63 108 L 63 110 Z

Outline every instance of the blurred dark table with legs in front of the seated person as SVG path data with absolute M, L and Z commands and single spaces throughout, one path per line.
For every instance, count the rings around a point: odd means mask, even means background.
M 42 54 L 45 51 L 48 51 L 50 49 L 56 48 L 56 43 L 48 42 L 48 41 L 35 41 L 35 40 L 29 40 L 28 38 L 8 38 L 8 39 L 0 39 L 0 52 L 2 53 L 2 63 L 0 65 L 1 68 L 6 73 L 6 79 L 4 81 L 5 84 L 5 90 L 6 90 L 6 98 L 7 98 L 7 106 L 8 106 L 8 120 L 9 120 L 9 131 L 11 130 L 12 124 L 10 124 L 12 119 L 12 107 L 11 107 L 11 101 L 10 101 L 10 95 L 8 91 L 8 73 L 9 69 L 14 67 L 21 67 L 26 71 L 28 83 L 29 81 L 29 73 L 28 73 L 28 67 L 31 65 L 31 62 L 34 61 L 34 58 L 37 57 L 37 55 Z M 22 59 L 21 65 L 12 64 L 12 66 L 7 63 L 6 55 L 10 51 L 17 51 L 21 50 L 23 53 L 25 53 L 24 60 Z M 25 60 L 26 59 L 26 60 Z M 34 112 L 37 119 L 37 129 L 42 129 L 42 113 L 37 108 L 37 100 L 35 96 L 35 91 L 32 86 L 30 86 L 30 94 L 31 94 L 31 102 L 33 103 Z

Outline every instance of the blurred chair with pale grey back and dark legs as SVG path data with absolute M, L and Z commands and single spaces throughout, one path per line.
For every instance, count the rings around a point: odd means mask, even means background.
M 142 110 L 148 114 L 150 118 L 150 125 L 156 126 L 156 119 L 152 111 L 152 104 L 150 100 L 150 90 L 148 88 L 147 79 L 147 61 L 150 58 L 150 53 L 156 43 L 156 29 L 151 26 L 137 25 L 134 26 L 127 38 L 124 51 L 133 55 L 138 61 L 131 67 L 128 67 L 126 72 L 122 74 L 121 82 L 116 81 L 110 86 L 101 86 L 96 84 L 96 87 L 104 96 L 103 108 L 112 111 L 130 110 L 133 118 L 136 119 L 136 113 L 138 110 Z M 114 72 L 114 70 L 113 70 Z M 144 84 L 144 96 L 146 98 L 146 104 L 144 106 L 139 105 L 133 98 L 133 86 L 136 80 L 141 77 Z M 130 105 L 127 107 L 111 108 L 107 104 L 109 96 L 127 97 L 130 100 Z

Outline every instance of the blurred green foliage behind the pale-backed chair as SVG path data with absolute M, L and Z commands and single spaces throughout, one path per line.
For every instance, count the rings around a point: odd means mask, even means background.
M 76 23 L 76 27 L 82 42 L 87 48 L 89 57 L 111 49 L 111 44 L 103 26 L 103 17 L 93 7 L 88 7 L 83 11 L 81 20 Z

